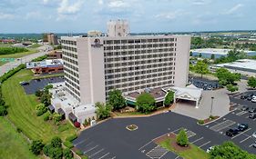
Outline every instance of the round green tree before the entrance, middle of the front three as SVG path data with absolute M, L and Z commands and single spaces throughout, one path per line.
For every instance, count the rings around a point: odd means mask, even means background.
M 136 106 L 139 112 L 148 114 L 156 109 L 156 100 L 151 94 L 139 94 L 136 98 Z

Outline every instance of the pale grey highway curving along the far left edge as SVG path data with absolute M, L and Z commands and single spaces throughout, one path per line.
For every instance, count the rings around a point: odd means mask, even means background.
M 26 64 L 26 62 L 29 62 L 36 57 L 46 55 L 46 53 L 47 53 L 46 50 L 52 50 L 52 49 L 53 49 L 53 47 L 51 45 L 43 45 L 39 48 L 40 51 L 36 54 L 26 55 L 24 57 L 21 57 L 19 60 L 15 60 L 14 62 L 9 62 L 5 65 L 0 66 L 0 76 L 4 75 L 6 72 L 15 68 L 18 65 Z

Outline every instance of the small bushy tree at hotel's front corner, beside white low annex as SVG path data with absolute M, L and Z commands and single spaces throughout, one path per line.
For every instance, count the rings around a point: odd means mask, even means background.
M 96 110 L 97 119 L 103 120 L 110 116 L 110 112 L 111 112 L 110 104 L 103 104 L 103 103 L 97 102 L 95 105 L 97 107 L 97 110 Z

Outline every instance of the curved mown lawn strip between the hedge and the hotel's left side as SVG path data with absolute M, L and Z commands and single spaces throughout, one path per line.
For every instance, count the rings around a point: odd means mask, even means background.
M 67 122 L 64 131 L 59 131 L 59 126 L 43 120 L 43 115 L 36 116 L 36 95 L 26 95 L 21 81 L 33 78 L 30 70 L 21 70 L 9 78 L 2 86 L 5 102 L 9 105 L 8 118 L 30 138 L 42 139 L 48 142 L 54 136 L 65 139 L 68 135 L 75 134 L 76 129 Z

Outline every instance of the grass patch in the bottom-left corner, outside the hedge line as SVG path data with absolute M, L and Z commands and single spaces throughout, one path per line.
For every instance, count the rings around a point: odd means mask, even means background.
M 4 117 L 0 117 L 0 158 L 5 159 L 36 159 L 29 151 L 26 139 L 15 131 Z

